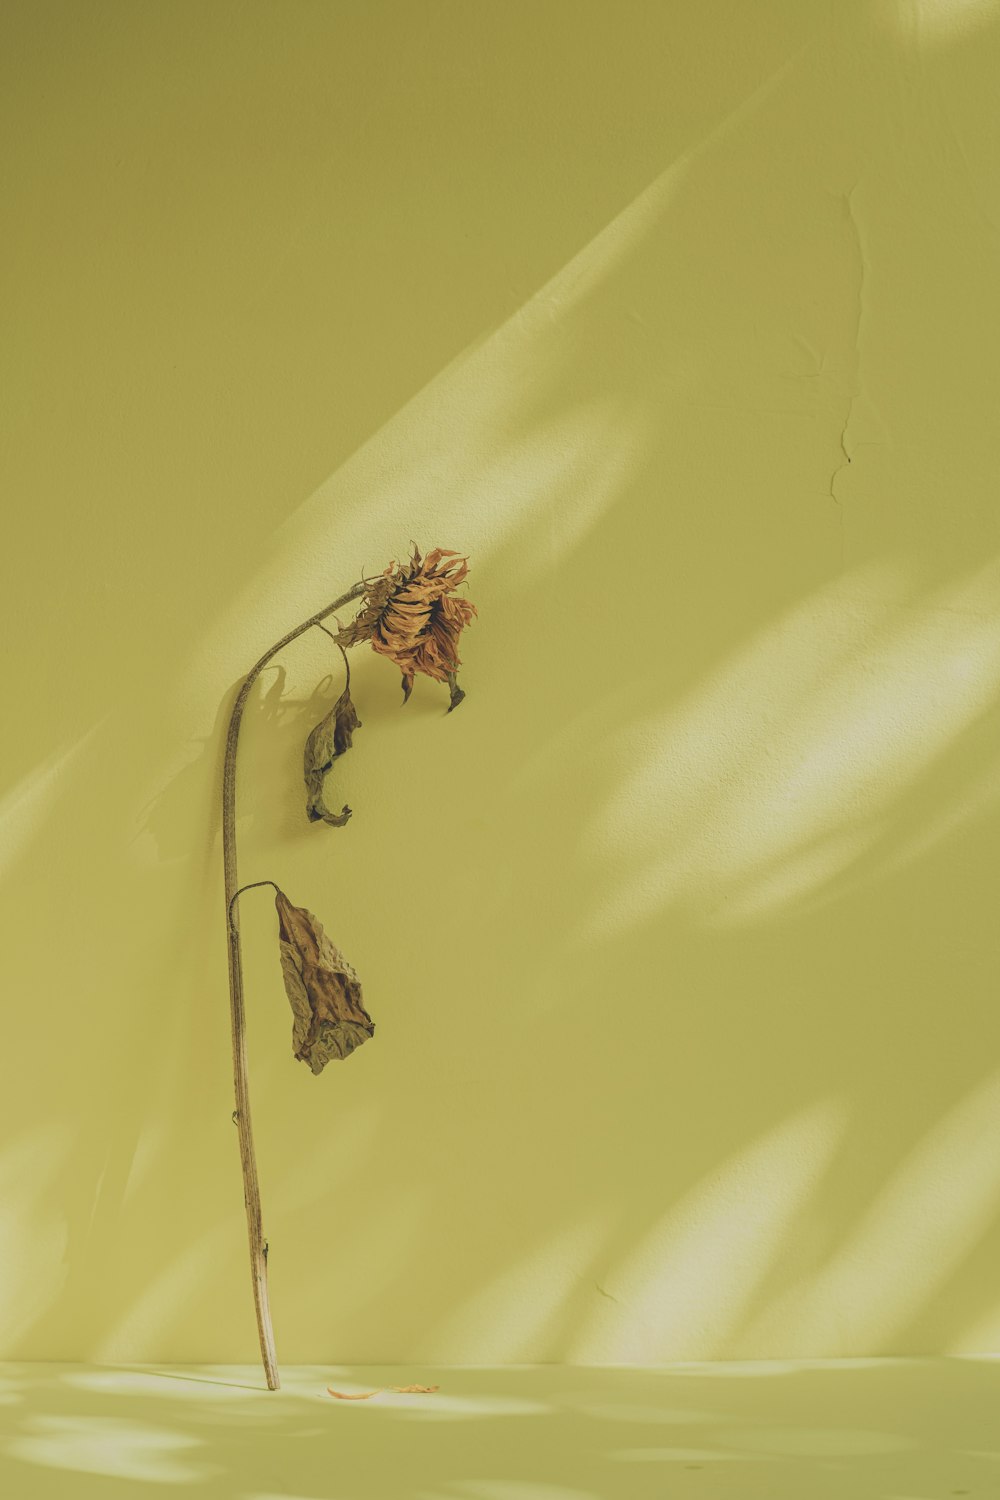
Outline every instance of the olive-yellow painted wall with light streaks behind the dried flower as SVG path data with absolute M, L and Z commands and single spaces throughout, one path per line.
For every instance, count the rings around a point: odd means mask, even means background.
M 237 687 L 468 554 L 468 699 L 255 692 L 283 1360 L 1000 1342 L 1000 4 L 3 8 L 0 1353 L 250 1360 Z

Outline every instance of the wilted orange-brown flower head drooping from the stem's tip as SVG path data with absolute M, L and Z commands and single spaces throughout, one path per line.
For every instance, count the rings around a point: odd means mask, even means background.
M 477 614 L 475 604 L 454 592 L 468 572 L 468 558 L 457 552 L 435 548 L 421 558 L 414 546 L 409 562 L 390 562 L 372 580 L 360 614 L 337 639 L 345 646 L 370 640 L 372 650 L 390 657 L 403 675 L 403 702 L 415 674 L 423 672 L 448 684 L 456 708 L 465 698 L 454 680 L 460 666 L 459 636 Z

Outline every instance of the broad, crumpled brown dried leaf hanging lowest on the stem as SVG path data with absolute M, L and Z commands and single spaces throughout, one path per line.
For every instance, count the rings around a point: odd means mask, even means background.
M 292 1008 L 292 1052 L 313 1072 L 349 1058 L 375 1034 L 361 1005 L 361 981 L 322 924 L 283 891 L 274 897 L 285 993 Z

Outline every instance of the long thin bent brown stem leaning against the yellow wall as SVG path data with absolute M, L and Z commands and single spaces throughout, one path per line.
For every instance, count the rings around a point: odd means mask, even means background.
M 234 1120 L 240 1131 L 240 1161 L 243 1164 L 243 1200 L 246 1203 L 246 1226 L 250 1240 L 250 1276 L 253 1281 L 253 1306 L 256 1310 L 256 1330 L 261 1340 L 261 1359 L 267 1376 L 268 1390 L 277 1390 L 277 1356 L 274 1354 L 274 1334 L 271 1330 L 271 1312 L 267 1300 L 267 1240 L 261 1221 L 261 1190 L 256 1176 L 256 1156 L 253 1154 L 253 1125 L 250 1120 L 250 1089 L 247 1082 L 246 1053 L 246 1014 L 243 1006 L 243 954 L 240 948 L 240 930 L 232 922 L 232 902 L 238 891 L 237 849 L 235 849 L 235 760 L 240 742 L 240 723 L 243 710 L 250 694 L 253 682 L 264 670 L 271 657 L 297 636 L 304 634 L 312 626 L 331 615 L 334 609 L 342 609 L 351 600 L 364 592 L 364 584 L 355 584 L 346 594 L 336 598 L 333 604 L 310 615 L 295 630 L 271 646 L 261 660 L 250 669 L 243 682 L 232 714 L 229 716 L 229 730 L 226 734 L 226 756 L 222 774 L 222 862 L 226 888 L 226 940 L 229 950 L 229 1014 L 232 1020 L 232 1077 L 235 1083 Z M 268 884 L 268 882 L 262 882 Z

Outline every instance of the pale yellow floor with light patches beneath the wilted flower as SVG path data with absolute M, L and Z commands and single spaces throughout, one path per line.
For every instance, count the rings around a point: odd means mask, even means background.
M 382 1384 L 432 1395 L 334 1401 Z M 1000 1358 L 0 1366 L 3 1500 L 1000 1497 Z

